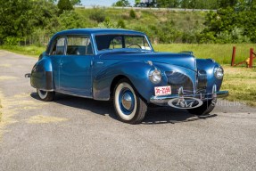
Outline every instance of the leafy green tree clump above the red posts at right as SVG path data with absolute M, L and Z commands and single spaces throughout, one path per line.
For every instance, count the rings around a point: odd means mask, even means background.
M 240 6 L 235 5 L 238 9 Z M 240 8 L 228 6 L 221 8 L 218 12 L 207 14 L 202 37 L 211 33 L 216 38 L 217 43 L 243 43 L 256 42 L 256 9 Z M 244 10 L 243 10 L 244 9 Z

